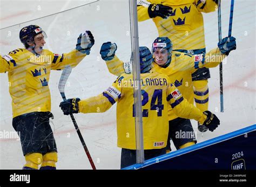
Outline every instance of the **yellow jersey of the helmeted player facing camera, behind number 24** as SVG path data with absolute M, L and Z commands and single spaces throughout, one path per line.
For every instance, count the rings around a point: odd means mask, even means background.
M 205 55 L 191 55 L 180 52 L 172 52 L 171 63 L 167 67 L 160 67 L 153 63 L 153 71 L 165 74 L 170 81 L 180 90 L 183 97 L 191 104 L 194 103 L 193 85 L 191 74 L 198 68 L 213 68 L 225 59 L 219 48 L 214 48 Z M 123 62 L 117 56 L 110 61 L 106 61 L 110 73 L 119 76 L 124 73 Z M 177 115 L 169 107 L 169 120 L 176 119 Z

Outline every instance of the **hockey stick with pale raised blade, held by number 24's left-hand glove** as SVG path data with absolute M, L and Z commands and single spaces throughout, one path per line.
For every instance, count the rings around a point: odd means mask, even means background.
M 64 101 L 66 100 L 65 91 L 64 91 L 65 90 L 65 84 L 66 84 L 66 81 L 69 78 L 69 75 L 71 74 L 71 70 L 72 70 L 72 68 L 70 66 L 66 66 L 65 69 L 62 71 L 62 76 L 60 76 L 60 80 L 59 80 L 58 88 L 59 88 L 60 95 L 62 95 L 62 98 L 63 98 Z M 93 163 L 93 160 L 92 160 L 91 155 L 89 153 L 89 150 L 88 150 L 87 146 L 85 145 L 83 136 L 82 136 L 82 134 L 81 134 L 81 132 L 79 130 L 79 127 L 78 127 L 78 125 L 76 123 L 76 119 L 74 118 L 72 113 L 70 114 L 70 117 L 71 117 L 71 119 L 73 121 L 73 124 L 74 124 L 74 126 L 76 128 L 76 131 L 77 131 L 77 134 L 79 136 L 79 139 L 80 139 L 80 141 L 81 141 L 81 143 L 82 143 L 82 145 L 84 147 L 85 153 L 86 153 L 86 155 L 87 155 L 87 157 L 89 159 L 91 167 L 92 167 L 92 169 L 96 169 L 95 164 Z

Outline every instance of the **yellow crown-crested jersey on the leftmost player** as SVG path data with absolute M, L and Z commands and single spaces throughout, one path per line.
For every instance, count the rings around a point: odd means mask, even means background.
M 64 69 L 67 64 L 75 67 L 85 56 L 76 49 L 60 55 L 43 49 L 37 57 L 24 48 L 0 56 L 0 73 L 8 71 L 13 117 L 51 111 L 50 70 Z

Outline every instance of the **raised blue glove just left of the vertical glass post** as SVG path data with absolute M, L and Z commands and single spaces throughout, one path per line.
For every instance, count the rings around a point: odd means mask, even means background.
M 105 42 L 102 44 L 102 47 L 100 48 L 100 55 L 102 55 L 102 59 L 107 61 L 107 60 L 112 60 L 114 58 L 114 55 L 117 51 L 117 45 L 115 43 L 111 43 L 110 41 Z

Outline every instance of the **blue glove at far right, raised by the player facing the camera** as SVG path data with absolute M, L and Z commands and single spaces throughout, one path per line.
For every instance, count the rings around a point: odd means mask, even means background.
M 237 48 L 237 42 L 235 42 L 234 37 L 226 37 L 219 41 L 218 47 L 222 54 L 228 55 Z

